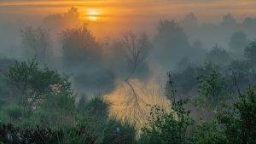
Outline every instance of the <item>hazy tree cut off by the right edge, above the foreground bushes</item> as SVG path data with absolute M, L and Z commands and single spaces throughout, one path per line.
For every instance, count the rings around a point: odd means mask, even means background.
M 247 44 L 244 54 L 251 66 L 256 66 L 256 41 Z

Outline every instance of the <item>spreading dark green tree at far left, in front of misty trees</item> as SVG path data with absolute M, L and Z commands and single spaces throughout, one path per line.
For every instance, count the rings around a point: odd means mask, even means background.
M 44 101 L 45 95 L 51 92 L 65 92 L 67 95 L 73 93 L 67 77 L 62 77 L 47 67 L 40 69 L 35 59 L 29 62 L 15 61 L 3 74 L 5 80 L 19 92 L 18 100 L 23 108 L 23 115 L 38 107 L 38 104 Z

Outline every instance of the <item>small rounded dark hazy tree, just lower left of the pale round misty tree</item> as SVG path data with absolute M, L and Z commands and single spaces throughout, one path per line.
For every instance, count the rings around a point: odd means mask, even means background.
M 207 61 L 210 61 L 216 65 L 223 66 L 230 63 L 230 54 L 222 47 L 216 44 L 213 49 L 207 53 Z

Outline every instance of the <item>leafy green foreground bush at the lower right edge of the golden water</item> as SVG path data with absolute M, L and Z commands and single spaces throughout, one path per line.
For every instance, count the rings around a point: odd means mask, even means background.
M 189 143 L 188 128 L 194 124 L 189 111 L 183 108 L 188 101 L 172 102 L 173 112 L 151 106 L 148 125 L 143 127 L 140 142 L 148 144 Z

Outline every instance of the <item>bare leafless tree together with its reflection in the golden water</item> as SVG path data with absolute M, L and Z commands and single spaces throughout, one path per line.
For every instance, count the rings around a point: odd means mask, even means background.
M 142 65 L 148 57 L 148 51 L 151 48 L 148 35 L 142 33 L 137 35 L 133 32 L 126 32 L 124 35 L 125 61 L 129 68 L 128 76 L 125 78 L 125 84 L 131 89 L 131 97 L 126 102 L 128 107 L 133 107 L 133 114 L 142 112 L 141 104 L 144 103 L 143 98 L 137 94 L 136 84 L 131 78 L 136 74 L 138 66 Z

